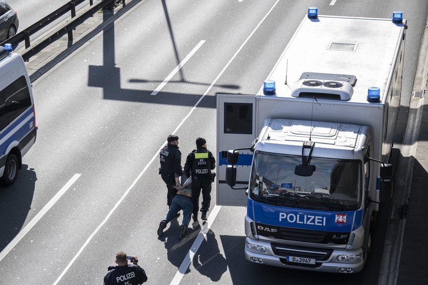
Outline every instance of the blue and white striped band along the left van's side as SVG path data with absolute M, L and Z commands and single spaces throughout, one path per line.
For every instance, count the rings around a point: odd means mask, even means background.
M 24 113 L 0 132 L 0 156 L 6 154 L 6 150 L 12 142 L 17 141 L 19 143 L 34 129 L 34 124 L 30 127 L 32 121 L 34 121 L 33 106 L 25 110 Z

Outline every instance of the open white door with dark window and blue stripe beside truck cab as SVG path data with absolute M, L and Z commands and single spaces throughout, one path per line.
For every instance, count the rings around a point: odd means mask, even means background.
M 246 206 L 245 190 L 226 184 L 227 151 L 250 147 L 256 138 L 256 96 L 217 94 L 217 205 Z M 252 152 L 240 150 L 235 188 L 248 187 Z

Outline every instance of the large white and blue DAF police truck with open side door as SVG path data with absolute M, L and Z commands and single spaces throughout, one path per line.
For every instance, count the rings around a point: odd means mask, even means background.
M 246 206 L 248 261 L 356 273 L 400 107 L 406 21 L 308 14 L 257 95 L 217 94 L 217 204 Z

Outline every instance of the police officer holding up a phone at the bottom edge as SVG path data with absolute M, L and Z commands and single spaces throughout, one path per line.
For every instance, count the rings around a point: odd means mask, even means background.
M 136 256 L 130 257 L 133 264 L 128 264 L 126 253 L 120 251 L 116 254 L 117 266 L 109 266 L 104 276 L 104 285 L 141 285 L 147 281 L 147 275 L 138 265 Z

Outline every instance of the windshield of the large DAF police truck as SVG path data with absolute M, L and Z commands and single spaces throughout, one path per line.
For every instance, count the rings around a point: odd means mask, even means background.
M 270 205 L 321 211 L 355 211 L 360 207 L 359 160 L 312 157 L 311 176 L 298 176 L 301 156 L 257 151 L 250 182 L 253 200 Z

